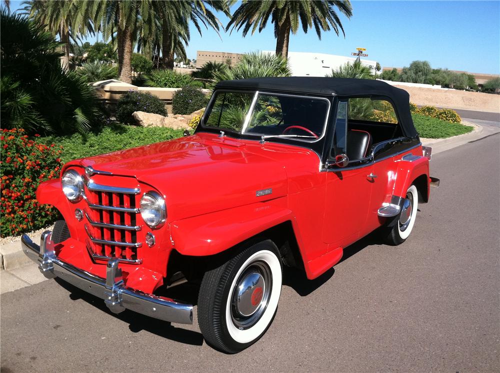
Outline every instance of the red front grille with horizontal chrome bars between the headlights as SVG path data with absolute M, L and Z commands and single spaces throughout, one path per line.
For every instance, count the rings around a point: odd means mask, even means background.
M 87 249 L 96 260 L 118 258 L 121 262 L 142 262 L 137 249 L 142 246 L 138 237 L 141 225 L 137 224 L 137 181 L 131 178 L 112 177 L 113 184 L 132 184 L 131 187 L 113 187 L 110 176 L 84 176 L 84 196 L 88 208 L 84 211 L 84 228 L 88 235 Z M 95 180 L 98 179 L 98 180 Z M 104 182 L 101 182 L 103 180 Z

